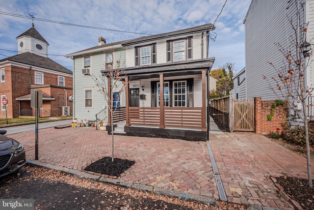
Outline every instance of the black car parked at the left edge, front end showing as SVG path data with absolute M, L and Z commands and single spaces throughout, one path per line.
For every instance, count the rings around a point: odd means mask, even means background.
M 0 177 L 11 174 L 26 164 L 23 145 L 3 136 L 5 133 L 6 130 L 0 130 Z

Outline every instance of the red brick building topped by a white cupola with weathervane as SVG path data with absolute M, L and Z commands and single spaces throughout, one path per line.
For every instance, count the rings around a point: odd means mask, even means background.
M 5 110 L 8 118 L 34 116 L 31 89 L 43 92 L 39 116 L 70 115 L 72 71 L 48 58 L 49 43 L 33 24 L 16 39 L 18 55 L 0 60 L 0 95 L 8 99 L 7 106 L 1 106 L 0 118 L 6 118 Z

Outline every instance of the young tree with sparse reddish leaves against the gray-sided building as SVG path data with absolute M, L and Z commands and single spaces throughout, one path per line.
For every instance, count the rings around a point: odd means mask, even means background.
M 308 98 L 312 96 L 313 84 L 307 83 L 306 69 L 311 63 L 313 50 L 309 50 L 310 44 L 307 42 L 308 24 L 295 25 L 293 20 L 289 21 L 293 34 L 288 37 L 288 47 L 283 47 L 280 43 L 275 43 L 280 53 L 285 58 L 282 65 L 275 65 L 269 62 L 275 69 L 276 74 L 267 80 L 271 90 L 280 99 L 286 100 L 288 107 L 294 110 L 304 124 L 306 156 L 309 186 L 313 187 L 311 172 L 311 156 L 310 156 L 310 139 L 308 122 L 308 108 L 312 107 L 312 103 L 308 103 Z M 302 111 L 297 107 L 302 104 Z

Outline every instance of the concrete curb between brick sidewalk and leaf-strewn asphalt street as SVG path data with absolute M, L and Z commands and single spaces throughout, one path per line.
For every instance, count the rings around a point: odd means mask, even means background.
M 65 167 L 55 166 L 52 164 L 43 163 L 43 162 L 40 162 L 37 160 L 27 160 L 27 164 L 29 166 L 43 167 L 43 168 L 53 169 L 56 171 L 61 171 L 61 172 L 64 172 L 66 174 L 70 174 L 74 177 L 77 177 L 79 179 L 101 181 L 104 183 L 128 187 L 128 188 L 136 189 L 139 191 L 146 191 L 146 192 L 151 192 L 151 193 L 155 193 L 158 195 L 177 197 L 177 198 L 180 198 L 180 199 L 186 200 L 186 201 L 199 202 L 199 203 L 206 204 L 208 206 L 215 206 L 215 207 L 218 206 L 218 203 L 214 198 L 204 196 L 204 195 L 196 195 L 196 194 L 192 194 L 192 193 L 183 193 L 183 192 L 179 192 L 179 191 L 154 187 L 151 185 L 138 184 L 138 183 L 132 183 L 132 182 L 123 181 L 123 180 L 106 178 L 106 177 L 103 177 L 100 175 L 93 175 L 93 174 L 83 172 L 83 171 L 78 171 L 78 170 L 68 169 Z

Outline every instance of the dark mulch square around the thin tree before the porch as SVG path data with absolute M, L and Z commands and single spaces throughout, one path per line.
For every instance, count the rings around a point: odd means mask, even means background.
M 84 168 L 84 170 L 108 176 L 120 177 L 120 175 L 128 170 L 134 163 L 135 161 L 120 158 L 114 158 L 114 161 L 112 162 L 111 157 L 104 157 L 91 163 Z

